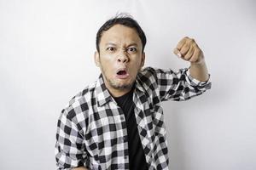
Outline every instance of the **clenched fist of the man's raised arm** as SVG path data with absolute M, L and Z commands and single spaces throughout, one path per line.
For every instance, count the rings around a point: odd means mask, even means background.
M 183 39 L 177 43 L 177 47 L 174 48 L 173 53 L 189 61 L 191 64 L 201 64 L 204 62 L 204 54 L 193 38 L 183 37 Z

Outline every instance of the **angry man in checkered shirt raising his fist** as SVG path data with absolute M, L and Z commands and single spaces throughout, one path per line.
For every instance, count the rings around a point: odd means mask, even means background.
M 102 74 L 73 97 L 57 124 L 58 169 L 168 169 L 161 101 L 186 100 L 211 87 L 195 40 L 184 37 L 174 53 L 189 69 L 143 69 L 146 37 L 127 15 L 97 32 L 95 63 Z

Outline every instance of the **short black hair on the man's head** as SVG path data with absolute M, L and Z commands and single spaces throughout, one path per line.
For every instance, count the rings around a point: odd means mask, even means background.
M 132 18 L 130 14 L 117 14 L 112 19 L 107 20 L 102 27 L 97 31 L 96 34 L 96 49 L 98 52 L 100 52 L 99 44 L 101 42 L 102 33 L 103 31 L 108 31 L 112 26 L 115 25 L 122 25 L 122 26 L 128 26 L 130 28 L 133 28 L 137 31 L 138 37 L 140 37 L 142 43 L 143 43 L 143 51 L 147 42 L 147 38 L 145 36 L 145 33 L 141 26 L 138 25 L 137 21 Z

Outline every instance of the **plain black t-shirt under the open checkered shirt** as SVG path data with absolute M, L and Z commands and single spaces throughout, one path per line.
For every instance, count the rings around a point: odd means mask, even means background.
M 114 98 L 125 114 L 129 146 L 129 168 L 131 170 L 147 170 L 148 165 L 143 151 L 141 139 L 137 132 L 137 122 L 132 101 L 133 89 L 127 94 Z

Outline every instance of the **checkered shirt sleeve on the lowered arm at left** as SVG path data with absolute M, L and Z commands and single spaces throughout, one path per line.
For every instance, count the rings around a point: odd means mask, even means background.
M 73 167 L 84 166 L 86 153 L 83 141 L 84 138 L 79 133 L 77 124 L 72 121 L 67 110 L 62 110 L 57 123 L 55 143 L 55 160 L 58 170 L 71 170 Z

